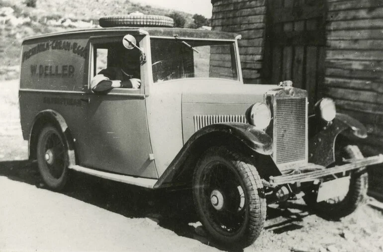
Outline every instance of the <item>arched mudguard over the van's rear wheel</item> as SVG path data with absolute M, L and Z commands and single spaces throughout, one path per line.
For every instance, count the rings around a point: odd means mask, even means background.
M 53 124 L 58 130 L 63 133 L 64 141 L 66 142 L 68 148 L 68 161 L 69 166 L 76 165 L 76 156 L 73 144 L 73 138 L 68 128 L 68 124 L 66 123 L 64 117 L 59 114 L 57 111 L 52 109 L 47 109 L 39 112 L 32 123 L 32 127 L 29 133 L 29 158 L 35 158 L 35 151 L 38 139 L 38 133 L 47 123 Z

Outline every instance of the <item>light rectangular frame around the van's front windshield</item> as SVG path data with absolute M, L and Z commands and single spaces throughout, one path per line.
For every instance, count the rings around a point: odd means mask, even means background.
M 177 36 L 177 38 L 176 38 Z M 152 84 L 154 85 L 157 85 L 157 84 L 162 84 L 162 83 L 167 83 L 167 82 L 170 82 L 170 81 L 180 81 L 180 80 L 184 80 L 184 79 L 215 79 L 215 80 L 225 80 L 225 81 L 232 81 L 232 82 L 239 82 L 239 83 L 243 83 L 243 79 L 242 79 L 242 71 L 241 71 L 241 62 L 240 62 L 240 57 L 239 57 L 239 49 L 238 49 L 238 39 L 240 39 L 240 36 L 236 37 L 235 39 L 215 39 L 215 38 L 198 38 L 198 37 L 181 37 L 181 36 L 178 36 L 178 34 L 175 34 L 174 37 L 170 37 L 170 36 L 148 36 L 148 40 L 149 40 L 149 48 L 150 48 L 150 55 L 152 56 L 152 51 L 151 51 L 151 43 L 152 43 L 152 39 L 168 39 L 168 40 L 172 40 L 172 41 L 177 41 L 179 40 L 180 42 L 181 41 L 186 41 L 187 43 L 190 43 L 192 41 L 206 41 L 206 42 L 226 42 L 231 45 L 229 45 L 233 52 L 232 52 L 232 58 L 231 58 L 231 61 L 232 61 L 232 67 L 233 69 L 235 68 L 235 71 L 236 71 L 236 74 L 237 74 L 237 78 L 236 79 L 228 79 L 228 78 L 219 78 L 219 77 L 188 77 L 188 78 L 180 78 L 180 79 L 172 79 L 172 80 L 166 80 L 166 81 L 163 81 L 163 82 L 154 82 L 154 80 L 152 79 Z M 152 57 L 150 57 L 150 64 L 148 64 L 150 67 L 152 66 Z M 234 66 L 235 65 L 235 66 Z M 152 70 L 152 69 L 151 69 Z M 152 72 L 152 71 L 151 71 Z M 154 73 L 152 73 L 153 75 Z M 153 76 L 152 76 L 153 78 Z

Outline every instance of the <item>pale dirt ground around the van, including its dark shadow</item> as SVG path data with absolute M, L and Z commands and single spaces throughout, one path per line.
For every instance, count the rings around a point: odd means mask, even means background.
M 0 251 L 227 250 L 203 235 L 188 194 L 76 172 L 65 192 L 46 190 L 36 164 L 27 161 L 17 81 L 0 88 Z M 365 204 L 333 222 L 302 200 L 271 205 L 264 231 L 244 251 L 383 251 L 383 214 Z

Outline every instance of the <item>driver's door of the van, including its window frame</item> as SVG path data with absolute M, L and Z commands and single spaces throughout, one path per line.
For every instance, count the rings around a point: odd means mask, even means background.
M 121 43 L 122 37 L 92 41 L 89 81 L 107 65 L 107 44 Z M 140 89 L 114 88 L 106 94 L 90 90 L 85 95 L 88 103 L 84 109 L 84 127 L 76 143 L 81 166 L 158 178 L 154 161 L 149 158 L 152 149 L 143 86 L 144 83 Z

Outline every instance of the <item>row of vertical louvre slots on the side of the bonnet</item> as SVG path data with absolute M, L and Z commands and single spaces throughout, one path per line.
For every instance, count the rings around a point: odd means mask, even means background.
M 246 123 L 245 115 L 194 115 L 194 130 L 197 131 L 207 125 L 222 122 Z

